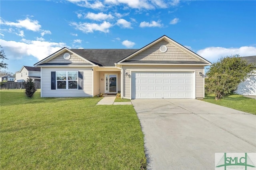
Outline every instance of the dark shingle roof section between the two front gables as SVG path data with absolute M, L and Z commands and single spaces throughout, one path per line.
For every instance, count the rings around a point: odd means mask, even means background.
M 138 49 L 70 49 L 70 50 L 99 66 L 115 66 L 114 63 L 138 51 Z

